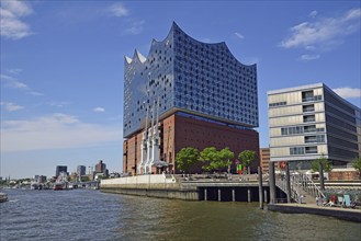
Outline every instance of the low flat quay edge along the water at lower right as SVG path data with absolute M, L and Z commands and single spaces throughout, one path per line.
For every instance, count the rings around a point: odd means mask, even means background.
M 313 204 L 268 204 L 268 210 L 285 214 L 311 214 L 361 222 L 361 209 L 324 207 Z

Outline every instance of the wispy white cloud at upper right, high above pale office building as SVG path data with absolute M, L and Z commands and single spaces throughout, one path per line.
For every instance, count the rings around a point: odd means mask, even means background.
M 291 36 L 280 44 L 284 48 L 323 46 L 340 42 L 360 30 L 361 9 L 351 9 L 339 18 L 317 18 L 291 27 Z

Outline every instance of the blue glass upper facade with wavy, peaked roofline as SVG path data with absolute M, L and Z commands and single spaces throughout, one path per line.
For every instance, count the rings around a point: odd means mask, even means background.
M 256 65 L 240 64 L 225 43 L 205 44 L 176 23 L 146 57 L 125 57 L 124 137 L 153 117 L 177 110 L 245 127 L 258 127 Z

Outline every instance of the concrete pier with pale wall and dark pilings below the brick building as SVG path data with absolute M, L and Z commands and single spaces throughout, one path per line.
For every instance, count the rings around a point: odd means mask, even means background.
M 237 179 L 236 179 L 237 177 Z M 259 200 L 257 175 L 244 181 L 228 179 L 190 180 L 172 175 L 138 175 L 102 180 L 101 191 L 106 193 L 176 198 L 183 200 L 255 202 Z M 268 187 L 268 182 L 262 183 Z

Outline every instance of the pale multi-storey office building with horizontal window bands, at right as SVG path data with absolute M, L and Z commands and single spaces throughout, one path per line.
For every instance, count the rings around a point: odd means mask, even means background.
M 349 167 L 361 154 L 361 110 L 326 84 L 269 91 L 268 104 L 271 161 L 309 169 L 325 157 Z

